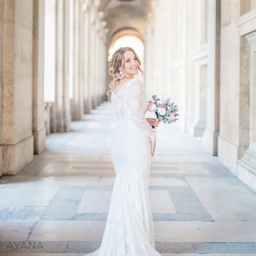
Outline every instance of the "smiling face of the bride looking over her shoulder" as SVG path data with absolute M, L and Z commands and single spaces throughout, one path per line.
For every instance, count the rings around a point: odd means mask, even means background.
M 123 70 L 127 78 L 133 79 L 135 74 L 138 74 L 139 61 L 137 60 L 133 51 L 126 51 L 123 54 Z M 121 67 L 118 68 L 122 70 Z

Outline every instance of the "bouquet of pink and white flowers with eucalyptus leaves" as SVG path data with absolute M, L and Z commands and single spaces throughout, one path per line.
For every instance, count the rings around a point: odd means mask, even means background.
M 176 123 L 176 118 L 179 114 L 177 105 L 173 105 L 174 102 L 170 102 L 170 98 L 167 100 L 163 101 L 157 98 L 156 95 L 152 96 L 153 101 L 149 101 L 148 103 L 148 111 L 150 112 L 155 112 L 156 118 L 158 120 L 162 120 L 163 123 Z

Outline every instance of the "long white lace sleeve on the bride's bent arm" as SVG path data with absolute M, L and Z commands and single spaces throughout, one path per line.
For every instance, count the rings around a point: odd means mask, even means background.
M 146 104 L 146 99 L 143 92 L 143 83 L 140 80 L 135 80 L 131 85 L 128 102 L 134 123 L 143 130 L 145 135 L 150 137 L 151 141 L 155 141 L 156 130 L 150 126 L 143 111 L 143 104 Z

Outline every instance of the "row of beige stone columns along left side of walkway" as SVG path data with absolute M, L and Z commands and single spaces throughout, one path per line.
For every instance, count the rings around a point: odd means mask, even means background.
M 71 120 L 105 100 L 107 29 L 99 4 L 0 1 L 0 175 L 16 174 L 44 150 L 46 132 L 69 131 Z

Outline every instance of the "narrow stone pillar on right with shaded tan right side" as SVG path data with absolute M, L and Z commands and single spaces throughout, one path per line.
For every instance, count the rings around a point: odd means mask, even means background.
M 220 118 L 220 0 L 208 1 L 207 123 L 203 141 L 217 155 Z

